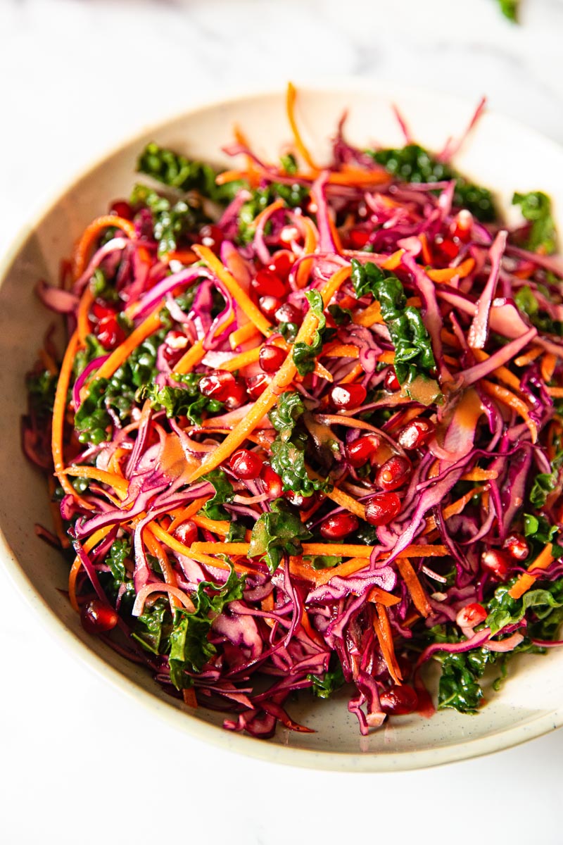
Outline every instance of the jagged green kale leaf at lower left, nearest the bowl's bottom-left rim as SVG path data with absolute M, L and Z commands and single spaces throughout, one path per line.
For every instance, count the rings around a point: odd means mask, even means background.
M 203 665 L 214 656 L 217 649 L 209 642 L 211 626 L 229 602 L 241 599 L 246 575 L 239 576 L 231 568 L 223 586 L 213 581 L 201 581 L 192 595 L 195 610 L 179 609 L 174 614 L 170 634 L 171 682 L 177 690 L 192 685 L 186 672 L 201 672 Z

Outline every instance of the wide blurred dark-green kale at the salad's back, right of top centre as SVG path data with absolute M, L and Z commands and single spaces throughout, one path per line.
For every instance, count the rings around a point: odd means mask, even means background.
M 468 209 L 483 223 L 492 223 L 498 217 L 488 188 L 468 182 L 419 144 L 407 144 L 399 150 L 367 150 L 367 154 L 399 182 L 430 183 L 455 179 L 453 204 L 457 208 Z

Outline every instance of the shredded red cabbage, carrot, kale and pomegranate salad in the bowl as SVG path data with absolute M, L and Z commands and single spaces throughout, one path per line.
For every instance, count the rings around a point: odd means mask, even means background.
M 400 115 L 403 147 L 343 120 L 320 163 L 295 96 L 274 163 L 239 128 L 221 172 L 149 144 L 38 285 L 68 339 L 27 381 L 36 531 L 85 630 L 225 728 L 309 731 L 295 695 L 341 687 L 361 733 L 436 694 L 474 713 L 512 655 L 561 645 L 550 200 L 514 194 L 509 230 L 463 139 L 432 154 Z

